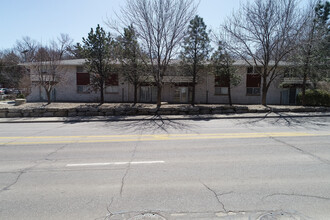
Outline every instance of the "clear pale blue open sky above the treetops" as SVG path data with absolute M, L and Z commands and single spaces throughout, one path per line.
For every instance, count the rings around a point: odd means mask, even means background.
M 240 3 L 252 0 L 200 0 L 198 14 L 209 28 L 218 28 Z M 197 0 L 196 0 L 197 2 Z M 81 42 L 90 28 L 114 17 L 125 0 L 0 0 L 0 49 L 29 36 L 47 43 L 60 33 Z

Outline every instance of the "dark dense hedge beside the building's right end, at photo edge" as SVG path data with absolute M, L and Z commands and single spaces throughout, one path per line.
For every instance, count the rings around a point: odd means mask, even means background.
M 298 104 L 302 103 L 302 93 L 298 94 Z M 306 105 L 311 106 L 330 106 L 330 93 L 325 90 L 306 90 L 305 94 Z

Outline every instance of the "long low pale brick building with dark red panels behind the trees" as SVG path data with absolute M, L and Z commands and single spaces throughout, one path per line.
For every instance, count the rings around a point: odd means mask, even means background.
M 31 65 L 23 64 L 26 68 Z M 89 73 L 84 70 L 84 59 L 64 60 L 61 65 L 65 73 L 55 85 L 51 94 L 55 102 L 99 102 L 99 91 L 93 91 Z M 257 67 L 248 66 L 244 61 L 236 61 L 240 84 L 232 88 L 234 104 L 260 104 L 262 77 L 257 74 Z M 283 67 L 284 68 L 284 67 Z M 38 86 L 38 78 L 33 69 L 30 70 L 32 81 L 31 93 L 27 97 L 30 102 L 46 101 L 44 89 Z M 298 80 L 299 81 L 299 80 Z M 299 83 L 290 83 L 288 78 L 279 77 L 271 84 L 267 104 L 295 104 L 299 92 Z M 283 86 L 283 82 L 286 82 Z M 293 86 L 296 85 L 296 86 Z M 191 100 L 191 77 L 171 75 L 164 77 L 162 101 L 168 103 L 189 103 Z M 211 72 L 205 72 L 198 78 L 196 84 L 196 104 L 227 104 L 228 85 L 220 77 Z M 133 102 L 134 87 L 120 74 L 112 74 L 105 87 L 105 102 Z M 152 83 L 143 83 L 138 89 L 138 102 L 155 103 L 157 88 Z

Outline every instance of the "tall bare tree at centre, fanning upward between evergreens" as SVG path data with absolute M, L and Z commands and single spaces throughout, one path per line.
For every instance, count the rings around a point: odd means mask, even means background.
M 123 26 L 133 25 L 147 59 L 143 62 L 157 86 L 157 107 L 161 105 L 163 78 L 177 55 L 189 21 L 195 14 L 193 0 L 126 0 L 118 16 Z M 112 27 L 112 22 L 108 25 Z M 143 57 L 143 56 L 141 56 Z

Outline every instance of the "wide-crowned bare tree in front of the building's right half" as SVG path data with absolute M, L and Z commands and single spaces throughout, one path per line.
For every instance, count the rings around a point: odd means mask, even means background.
M 272 82 L 281 74 L 279 63 L 296 48 L 305 20 L 298 0 L 255 0 L 243 5 L 223 25 L 226 48 L 257 66 L 262 78 L 263 105 Z

